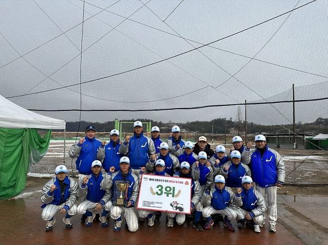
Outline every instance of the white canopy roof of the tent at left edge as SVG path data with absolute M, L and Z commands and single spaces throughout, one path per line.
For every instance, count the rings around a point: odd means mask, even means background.
M 65 125 L 63 120 L 30 112 L 0 95 L 0 127 L 65 129 Z

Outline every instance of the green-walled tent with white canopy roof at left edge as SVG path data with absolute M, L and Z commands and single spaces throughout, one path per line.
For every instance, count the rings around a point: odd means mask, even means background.
M 49 130 L 41 137 L 36 129 Z M 65 129 L 65 121 L 30 112 L 0 96 L 0 199 L 24 189 L 30 164 L 47 152 L 51 129 Z

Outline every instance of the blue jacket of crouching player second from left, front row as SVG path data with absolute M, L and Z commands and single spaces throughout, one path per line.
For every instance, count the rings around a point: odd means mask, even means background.
M 87 182 L 88 186 L 88 193 L 87 193 L 87 200 L 99 203 L 100 200 L 105 195 L 105 190 L 101 189 L 100 183 L 104 179 L 103 174 L 100 172 L 98 176 L 92 174 L 91 178 Z M 81 185 L 82 188 L 85 188 L 85 186 Z

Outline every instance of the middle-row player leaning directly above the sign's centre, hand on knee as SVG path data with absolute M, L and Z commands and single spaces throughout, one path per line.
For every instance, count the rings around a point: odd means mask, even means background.
M 165 172 L 170 176 L 179 176 L 179 160 L 176 156 L 168 152 L 168 145 L 162 142 L 160 145 L 160 153 L 153 155 L 149 162 L 146 164 L 148 172 L 154 171 L 155 161 L 157 159 L 162 159 L 165 162 Z

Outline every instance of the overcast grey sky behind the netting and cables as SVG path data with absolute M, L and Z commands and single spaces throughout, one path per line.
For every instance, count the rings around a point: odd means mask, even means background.
M 87 0 L 82 82 L 174 56 L 309 1 Z M 136 110 L 290 100 L 293 83 L 297 87 L 296 99 L 327 97 L 327 3 L 317 0 L 211 47 L 86 83 L 82 85 L 82 109 Z M 80 82 L 82 9 L 82 0 L 0 0 L 2 96 Z M 250 61 L 254 56 L 256 60 Z M 26 109 L 79 109 L 79 90 L 79 86 L 73 86 L 10 100 Z M 297 121 L 328 117 L 327 110 L 322 110 L 327 104 L 298 103 Z M 248 120 L 290 123 L 291 106 L 250 106 Z M 185 122 L 236 118 L 237 110 L 234 106 L 188 111 L 83 112 L 82 120 L 149 118 Z M 79 118 L 74 112 L 40 114 L 66 121 Z

